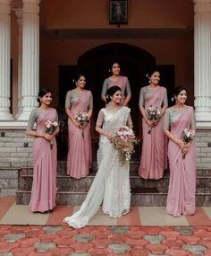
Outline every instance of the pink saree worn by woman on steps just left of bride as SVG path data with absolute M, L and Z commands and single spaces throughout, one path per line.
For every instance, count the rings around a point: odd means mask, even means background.
M 78 101 L 72 103 L 73 116 L 79 112 L 87 112 L 89 108 L 90 92 L 80 93 Z M 67 174 L 74 179 L 86 177 L 92 162 L 90 122 L 82 130 L 77 128 L 71 119 L 68 119 L 68 154 Z

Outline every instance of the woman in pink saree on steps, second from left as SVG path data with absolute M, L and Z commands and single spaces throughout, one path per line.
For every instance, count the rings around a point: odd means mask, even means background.
M 84 75 L 77 75 L 74 80 L 76 88 L 67 92 L 65 111 L 68 116 L 68 154 L 67 174 L 74 179 L 86 177 L 92 162 L 90 122 L 85 127 L 75 119 L 80 112 L 86 112 L 88 119 L 92 116 L 92 93 L 85 90 L 86 79 Z

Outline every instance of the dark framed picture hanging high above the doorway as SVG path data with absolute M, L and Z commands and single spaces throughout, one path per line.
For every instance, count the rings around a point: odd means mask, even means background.
M 109 0 L 109 23 L 127 24 L 128 23 L 128 0 L 114 1 Z

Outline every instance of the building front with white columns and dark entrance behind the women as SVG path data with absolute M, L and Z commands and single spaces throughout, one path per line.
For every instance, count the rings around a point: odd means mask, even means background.
M 18 169 L 31 166 L 33 138 L 25 136 L 25 128 L 38 105 L 38 89 L 51 88 L 54 106 L 63 113 L 71 77 L 82 71 L 94 95 L 96 138 L 100 91 L 112 60 L 118 60 L 122 74 L 129 76 L 138 134 L 138 95 L 149 66 L 161 69 L 169 98 L 174 86 L 187 88 L 188 103 L 196 110 L 198 169 L 210 170 L 211 2 L 128 0 L 123 24 L 110 22 L 114 17 L 109 2 L 0 0 L 2 195 L 13 194 Z

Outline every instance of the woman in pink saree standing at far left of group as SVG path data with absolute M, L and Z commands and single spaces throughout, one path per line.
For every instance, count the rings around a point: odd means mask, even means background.
M 56 197 L 56 169 L 57 147 L 55 135 L 46 133 L 45 123 L 50 120 L 58 121 L 56 110 L 50 107 L 52 92 L 49 89 L 40 89 L 38 93 L 39 107 L 32 110 L 27 127 L 27 135 L 35 137 L 33 145 L 33 183 L 30 198 L 32 212 L 45 213 L 55 207 Z M 33 130 L 34 123 L 37 131 Z M 53 146 L 51 148 L 51 142 Z

